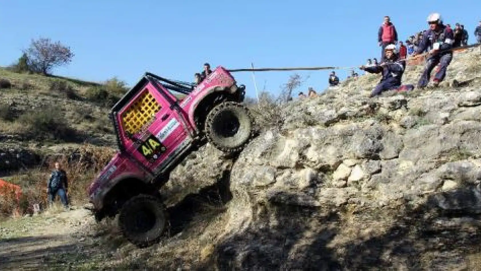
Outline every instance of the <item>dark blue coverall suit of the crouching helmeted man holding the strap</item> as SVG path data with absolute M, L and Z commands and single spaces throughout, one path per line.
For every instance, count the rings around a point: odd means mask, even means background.
M 397 57 L 396 57 L 397 58 Z M 365 67 L 364 70 L 371 74 L 382 73 L 382 78 L 379 84 L 372 90 L 372 96 L 380 95 L 381 92 L 397 88 L 401 86 L 401 77 L 403 77 L 405 61 L 404 60 L 386 60 L 385 67 L 372 66 Z

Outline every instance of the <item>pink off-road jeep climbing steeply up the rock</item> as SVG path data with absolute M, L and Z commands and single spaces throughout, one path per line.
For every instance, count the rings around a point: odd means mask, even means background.
M 178 162 L 207 141 L 236 153 L 252 138 L 244 95 L 220 66 L 195 87 L 146 73 L 110 113 L 119 150 L 89 187 L 96 219 L 119 214 L 128 240 L 156 242 L 166 225 L 158 188 Z

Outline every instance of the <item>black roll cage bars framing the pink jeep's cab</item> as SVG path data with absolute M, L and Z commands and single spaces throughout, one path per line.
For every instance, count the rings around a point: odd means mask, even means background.
M 115 105 L 112 107 L 109 117 L 112 121 L 112 124 L 114 125 L 114 132 L 115 132 L 115 139 L 117 141 L 117 147 L 120 152 L 126 153 L 125 147 L 122 144 L 122 141 L 120 140 L 120 124 L 117 122 L 115 115 L 120 111 L 124 106 L 128 104 L 128 102 L 134 98 L 139 91 L 141 91 L 144 86 L 147 84 L 151 83 L 152 86 L 155 87 L 157 92 L 162 95 L 169 103 L 172 108 L 179 108 L 178 101 L 173 100 L 171 97 L 165 94 L 164 91 L 159 87 L 159 85 L 165 87 L 168 91 L 175 91 L 181 94 L 189 95 L 193 88 L 194 84 L 193 83 L 187 83 L 187 82 L 181 82 L 181 81 L 175 81 L 175 80 L 170 80 L 161 76 L 158 76 L 156 74 L 152 73 L 145 73 L 142 78 L 139 80 L 139 82 L 132 87 L 127 93 L 122 97 Z

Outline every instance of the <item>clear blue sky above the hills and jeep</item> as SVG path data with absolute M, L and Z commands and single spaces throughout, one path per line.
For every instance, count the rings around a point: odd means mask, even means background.
M 358 66 L 379 57 L 377 31 L 390 15 L 400 38 L 427 27 L 430 12 L 460 22 L 474 42 L 481 1 L 318 0 L 2 0 L 0 65 L 13 63 L 32 38 L 70 46 L 73 62 L 53 71 L 89 81 L 113 76 L 134 85 L 150 71 L 193 81 L 204 62 L 246 68 Z M 256 73 L 259 89 L 278 94 L 291 72 Z M 299 90 L 327 86 L 329 71 L 310 75 Z M 346 73 L 339 71 L 341 79 Z M 252 73 L 234 74 L 255 97 Z

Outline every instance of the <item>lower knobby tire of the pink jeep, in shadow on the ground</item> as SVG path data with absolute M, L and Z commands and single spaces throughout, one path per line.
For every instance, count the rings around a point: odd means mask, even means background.
M 158 242 L 166 221 L 165 207 L 160 199 L 139 195 L 122 206 L 118 223 L 120 231 L 130 242 L 145 247 Z

